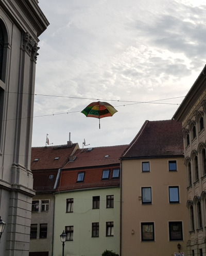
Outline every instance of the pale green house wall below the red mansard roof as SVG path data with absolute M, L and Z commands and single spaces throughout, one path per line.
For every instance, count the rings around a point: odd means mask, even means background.
M 106 196 L 114 195 L 114 208 L 106 207 Z M 92 198 L 100 196 L 99 209 L 92 208 Z M 66 241 L 64 255 L 101 256 L 112 250 L 119 253 L 119 188 L 100 188 L 55 193 L 54 255 L 62 255 L 60 234 L 74 225 L 73 241 Z M 66 199 L 74 199 L 73 213 L 66 213 Z M 106 222 L 114 222 L 114 235 L 106 236 Z M 99 222 L 99 237 L 92 237 L 92 223 Z

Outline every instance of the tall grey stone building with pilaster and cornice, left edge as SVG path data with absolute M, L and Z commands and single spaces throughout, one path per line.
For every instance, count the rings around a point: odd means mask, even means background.
M 41 24 L 41 25 L 40 25 Z M 37 1 L 0 2 L 0 215 L 7 223 L 1 254 L 28 255 L 33 93 L 38 36 L 48 22 Z

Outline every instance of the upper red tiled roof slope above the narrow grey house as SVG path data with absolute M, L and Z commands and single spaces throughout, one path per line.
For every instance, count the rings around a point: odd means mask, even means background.
M 31 171 L 54 170 L 62 168 L 68 158 L 79 148 L 77 143 L 71 145 L 32 147 L 31 148 Z M 59 159 L 56 159 L 59 157 Z M 35 161 L 35 159 L 39 159 Z

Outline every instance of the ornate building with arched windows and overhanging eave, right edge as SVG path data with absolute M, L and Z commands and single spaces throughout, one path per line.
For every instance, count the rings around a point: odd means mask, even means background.
M 188 255 L 206 255 L 206 77 L 205 68 L 181 103 L 174 119 L 182 122 L 187 169 Z

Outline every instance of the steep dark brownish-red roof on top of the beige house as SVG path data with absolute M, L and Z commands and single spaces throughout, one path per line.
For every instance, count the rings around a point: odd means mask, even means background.
M 123 158 L 183 156 L 182 123 L 145 121 Z

